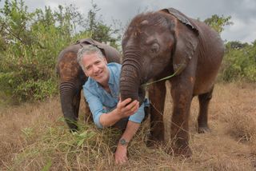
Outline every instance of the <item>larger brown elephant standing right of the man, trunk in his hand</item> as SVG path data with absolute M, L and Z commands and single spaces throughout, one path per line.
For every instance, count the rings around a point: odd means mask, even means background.
M 216 31 L 174 8 L 135 16 L 122 38 L 121 99 L 142 102 L 143 85 L 166 78 L 170 82 L 173 111 L 170 137 L 165 137 L 163 112 L 165 82 L 149 86 L 150 140 L 167 145 L 167 153 L 190 157 L 190 104 L 198 96 L 198 133 L 210 131 L 208 106 L 220 68 L 224 46 Z M 171 100 L 171 99 L 170 99 Z

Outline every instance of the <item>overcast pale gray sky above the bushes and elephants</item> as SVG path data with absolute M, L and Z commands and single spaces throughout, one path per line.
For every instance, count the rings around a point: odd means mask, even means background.
M 1 1 L 1 0 L 0 0 Z M 3 0 L 2 0 L 3 1 Z M 3 6 L 3 2 L 0 6 Z M 23 0 L 29 10 L 44 9 L 50 6 L 57 10 L 58 5 L 73 4 L 78 10 L 87 15 L 92 8 L 91 0 Z M 94 0 L 100 9 L 101 19 L 106 24 L 113 20 L 126 27 L 134 16 L 145 11 L 161 10 L 173 7 L 190 18 L 204 20 L 214 14 L 231 16 L 231 26 L 225 26 L 221 37 L 226 41 L 254 42 L 256 39 L 256 0 Z

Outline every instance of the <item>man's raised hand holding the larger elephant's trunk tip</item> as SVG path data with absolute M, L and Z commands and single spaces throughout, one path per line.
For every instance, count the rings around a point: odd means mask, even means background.
M 134 113 L 137 112 L 139 107 L 139 102 L 137 100 L 134 100 L 132 102 L 130 101 L 131 101 L 131 98 L 126 98 L 126 100 L 121 101 L 120 99 L 118 102 L 117 110 L 118 110 L 118 113 L 122 115 L 122 117 L 130 117 L 130 115 L 133 115 Z

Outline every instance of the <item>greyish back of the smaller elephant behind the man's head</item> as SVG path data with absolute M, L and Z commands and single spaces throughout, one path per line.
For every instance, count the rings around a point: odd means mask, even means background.
M 102 44 L 100 42 L 97 42 L 93 40 L 92 38 L 83 38 L 81 40 L 78 40 L 75 44 L 79 44 L 81 47 L 84 45 L 94 45 L 97 46 L 98 49 L 102 50 L 102 53 L 106 57 L 106 61 L 109 62 L 121 62 L 121 54 L 118 52 L 118 50 L 114 49 L 111 46 L 108 46 L 106 44 Z

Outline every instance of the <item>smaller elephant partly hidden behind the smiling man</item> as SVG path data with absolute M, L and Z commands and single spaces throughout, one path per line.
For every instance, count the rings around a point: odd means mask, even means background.
M 62 113 L 65 117 L 66 124 L 70 131 L 78 130 L 78 112 L 81 99 L 82 85 L 87 81 L 81 66 L 77 62 L 78 50 L 86 45 L 91 44 L 102 50 L 102 54 L 106 57 L 107 62 L 120 63 L 121 54 L 118 50 L 106 44 L 94 41 L 91 38 L 84 38 L 67 46 L 58 55 L 56 71 L 59 76 L 59 92 L 62 105 Z M 86 111 L 90 111 L 86 104 Z

